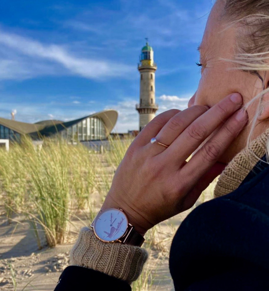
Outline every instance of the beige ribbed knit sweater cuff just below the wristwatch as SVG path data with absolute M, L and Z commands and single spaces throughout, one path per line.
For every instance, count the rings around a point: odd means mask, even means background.
M 71 250 L 71 265 L 85 267 L 131 284 L 142 272 L 148 258 L 145 249 L 120 242 L 102 242 L 84 227 Z

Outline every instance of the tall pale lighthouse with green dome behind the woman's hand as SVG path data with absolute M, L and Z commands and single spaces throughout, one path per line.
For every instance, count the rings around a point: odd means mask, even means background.
M 147 41 L 141 50 L 138 71 L 140 73 L 140 101 L 136 105 L 139 113 L 139 130 L 141 131 L 154 117 L 158 110 L 155 104 L 155 72 L 157 65 L 153 59 L 153 49 Z

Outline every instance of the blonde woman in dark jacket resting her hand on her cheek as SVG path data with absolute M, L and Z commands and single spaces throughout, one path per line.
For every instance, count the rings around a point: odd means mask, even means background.
M 269 290 L 269 0 L 217 0 L 199 50 L 189 108 L 158 115 L 134 140 L 56 291 L 131 290 L 144 234 L 220 173 L 216 198 L 173 240 L 175 290 Z

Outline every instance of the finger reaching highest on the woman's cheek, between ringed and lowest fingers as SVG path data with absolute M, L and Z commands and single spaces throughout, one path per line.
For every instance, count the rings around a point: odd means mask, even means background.
M 232 94 L 198 117 L 162 155 L 179 166 L 209 135 L 242 105 L 240 94 Z

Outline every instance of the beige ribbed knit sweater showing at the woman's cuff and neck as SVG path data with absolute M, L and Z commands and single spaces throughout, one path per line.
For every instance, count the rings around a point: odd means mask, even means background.
M 266 153 L 269 129 L 248 149 L 242 150 L 225 168 L 216 185 L 216 197 L 236 190 L 258 160 Z M 114 276 L 128 283 L 135 281 L 148 258 L 145 249 L 122 244 L 106 243 L 96 238 L 93 231 L 82 228 L 71 251 L 71 265 L 90 268 Z

